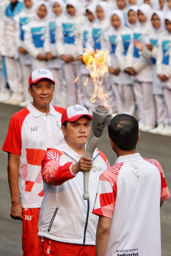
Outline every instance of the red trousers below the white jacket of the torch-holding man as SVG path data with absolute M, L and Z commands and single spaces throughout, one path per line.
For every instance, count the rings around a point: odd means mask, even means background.
M 96 246 L 63 243 L 40 237 L 41 256 L 96 256 Z

